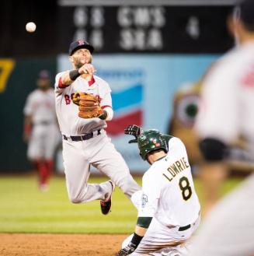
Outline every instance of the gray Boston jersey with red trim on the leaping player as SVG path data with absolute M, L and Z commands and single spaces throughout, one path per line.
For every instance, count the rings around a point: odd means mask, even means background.
M 61 72 L 56 75 L 54 90 L 56 96 L 57 119 L 62 134 L 82 135 L 96 131 L 100 128 L 106 128 L 106 121 L 99 118 L 85 119 L 78 117 L 78 106 L 72 102 L 71 97 L 74 93 L 78 92 L 90 93 L 99 98 L 100 106 L 102 108 L 112 108 L 110 95 L 111 89 L 109 84 L 96 75 L 93 76 L 94 79 L 92 80 L 92 83 L 87 82 L 79 76 L 78 79 L 71 83 L 71 86 L 60 88 L 59 83 L 61 83 L 60 78 L 63 73 L 64 72 Z

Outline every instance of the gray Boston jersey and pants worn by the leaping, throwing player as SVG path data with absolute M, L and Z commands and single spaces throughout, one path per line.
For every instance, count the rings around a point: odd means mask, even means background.
M 111 110 L 110 86 L 96 75 L 89 82 L 80 76 L 70 86 L 62 86 L 61 74 L 63 72 L 56 76 L 55 98 L 57 118 L 63 135 L 64 172 L 71 202 L 104 200 L 112 190 L 108 182 L 87 183 L 91 165 L 110 177 L 130 198 L 140 187 L 131 177 L 124 158 L 106 135 L 106 121 L 98 117 L 78 117 L 78 106 L 71 101 L 71 96 L 76 92 L 91 93 L 98 96 L 104 110 Z

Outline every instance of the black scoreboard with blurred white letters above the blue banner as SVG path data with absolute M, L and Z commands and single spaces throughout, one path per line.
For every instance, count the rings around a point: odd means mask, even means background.
M 226 26 L 231 5 L 66 2 L 59 2 L 57 18 L 61 52 L 68 50 L 72 40 L 82 38 L 101 53 L 220 53 L 233 44 Z

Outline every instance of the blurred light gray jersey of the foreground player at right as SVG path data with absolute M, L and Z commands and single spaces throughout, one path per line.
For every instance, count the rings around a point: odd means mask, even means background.
M 239 135 L 254 153 L 254 43 L 225 54 L 204 79 L 195 128 L 201 139 L 231 143 Z

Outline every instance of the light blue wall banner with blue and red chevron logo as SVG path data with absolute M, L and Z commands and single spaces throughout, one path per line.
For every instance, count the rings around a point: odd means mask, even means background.
M 128 124 L 167 132 L 172 99 L 180 86 L 197 82 L 217 55 L 191 54 L 95 54 L 96 75 L 112 89 L 114 117 L 106 132 L 124 156 L 130 170 L 142 172 L 148 163 L 141 160 L 137 144 L 124 135 Z M 58 71 L 71 69 L 68 56 L 57 60 Z

